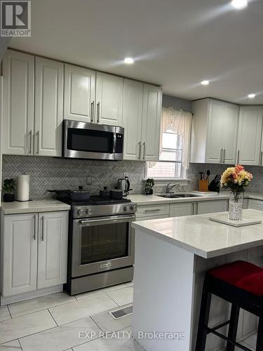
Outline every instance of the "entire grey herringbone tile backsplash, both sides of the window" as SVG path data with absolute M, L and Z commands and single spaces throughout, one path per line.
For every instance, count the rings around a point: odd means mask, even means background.
M 96 194 L 103 186 L 113 188 L 118 178 L 123 178 L 123 172 L 128 174 L 131 194 L 143 192 L 144 161 L 95 161 L 81 159 L 62 159 L 54 157 L 3 156 L 3 180 L 17 178 L 21 173 L 30 175 L 30 198 L 46 199 L 53 197 L 47 192 L 52 189 L 77 189 L 82 185 L 85 189 Z M 190 164 L 187 187 L 180 187 L 177 191 L 198 189 L 198 172 L 210 169 L 210 180 L 216 174 L 222 174 L 227 165 L 219 164 Z M 263 167 L 248 166 L 254 178 L 248 187 L 252 192 L 263 192 Z M 86 177 L 92 178 L 92 184 L 86 184 Z M 154 186 L 154 192 L 165 192 L 165 186 Z

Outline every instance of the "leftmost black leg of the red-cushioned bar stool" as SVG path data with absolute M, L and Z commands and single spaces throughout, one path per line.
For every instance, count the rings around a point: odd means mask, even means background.
M 211 296 L 211 293 L 207 291 L 204 284 L 198 324 L 198 333 L 196 339 L 196 351 L 205 351 L 205 343 L 207 336 L 206 326 L 208 326 Z

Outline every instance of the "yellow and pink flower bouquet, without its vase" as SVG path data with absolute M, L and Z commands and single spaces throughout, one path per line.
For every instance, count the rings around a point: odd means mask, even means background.
M 252 174 L 245 171 L 241 164 L 236 164 L 224 171 L 220 183 L 221 187 L 231 189 L 232 192 L 244 192 L 252 178 Z

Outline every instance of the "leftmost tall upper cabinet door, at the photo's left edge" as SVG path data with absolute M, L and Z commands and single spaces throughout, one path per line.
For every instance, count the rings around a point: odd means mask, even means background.
M 3 77 L 3 154 L 32 154 L 34 56 L 8 50 Z

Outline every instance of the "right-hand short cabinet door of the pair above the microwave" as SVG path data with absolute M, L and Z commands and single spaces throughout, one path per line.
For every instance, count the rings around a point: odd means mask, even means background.
M 123 78 L 97 72 L 95 121 L 122 126 L 122 114 Z

